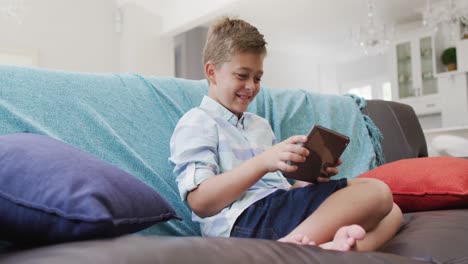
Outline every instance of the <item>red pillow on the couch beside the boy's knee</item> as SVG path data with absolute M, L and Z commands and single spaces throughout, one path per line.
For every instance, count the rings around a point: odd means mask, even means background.
M 403 212 L 468 208 L 468 159 L 404 159 L 358 176 L 387 183 Z

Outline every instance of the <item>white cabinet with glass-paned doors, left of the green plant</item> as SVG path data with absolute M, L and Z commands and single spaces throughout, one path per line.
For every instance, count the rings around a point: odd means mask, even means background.
M 434 54 L 430 34 L 397 41 L 391 51 L 393 100 L 410 104 L 418 115 L 441 112 Z

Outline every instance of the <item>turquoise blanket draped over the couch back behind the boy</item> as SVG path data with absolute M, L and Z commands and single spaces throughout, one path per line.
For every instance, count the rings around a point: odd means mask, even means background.
M 0 66 L 0 134 L 49 135 L 115 164 L 161 193 L 184 219 L 143 234 L 199 235 L 168 157 L 177 121 L 206 93 L 204 80 Z M 353 98 L 264 87 L 250 111 L 270 121 L 278 140 L 305 134 L 314 123 L 348 135 L 338 177 L 376 166 L 369 124 Z

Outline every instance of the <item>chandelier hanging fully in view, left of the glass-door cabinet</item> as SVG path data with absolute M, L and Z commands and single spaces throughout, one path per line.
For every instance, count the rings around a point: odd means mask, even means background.
M 353 43 L 366 55 L 382 54 L 390 45 L 393 35 L 393 26 L 387 26 L 376 18 L 375 2 L 368 0 L 366 22 L 351 31 Z

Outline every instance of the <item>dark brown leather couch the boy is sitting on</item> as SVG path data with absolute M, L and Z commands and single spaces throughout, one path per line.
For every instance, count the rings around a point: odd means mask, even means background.
M 387 161 L 427 156 L 413 109 L 369 100 Z M 378 252 L 336 252 L 268 240 L 126 235 L 32 249 L 12 249 L 0 263 L 468 263 L 468 210 L 404 214 L 398 234 Z

